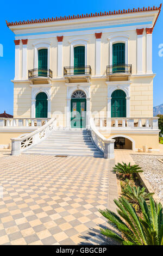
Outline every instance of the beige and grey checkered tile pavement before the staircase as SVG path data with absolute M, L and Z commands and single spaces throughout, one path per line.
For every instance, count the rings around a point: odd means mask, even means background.
M 98 209 L 115 210 L 111 160 L 20 155 L 1 157 L 1 245 L 106 244 Z

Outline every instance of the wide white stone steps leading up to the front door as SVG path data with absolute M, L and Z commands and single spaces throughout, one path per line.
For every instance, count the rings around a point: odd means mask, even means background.
M 89 130 L 57 130 L 23 154 L 103 157 L 92 143 Z

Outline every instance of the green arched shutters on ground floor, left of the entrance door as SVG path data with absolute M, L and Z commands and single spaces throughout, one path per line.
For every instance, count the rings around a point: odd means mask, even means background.
M 36 118 L 47 118 L 46 93 L 39 93 L 36 96 Z

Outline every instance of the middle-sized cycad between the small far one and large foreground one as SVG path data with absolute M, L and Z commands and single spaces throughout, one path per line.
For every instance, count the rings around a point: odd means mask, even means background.
M 131 187 L 127 185 L 123 188 L 122 194 L 133 205 L 136 211 L 140 211 L 139 200 L 143 198 L 149 204 L 149 197 L 153 196 L 154 193 L 146 193 L 145 187 Z

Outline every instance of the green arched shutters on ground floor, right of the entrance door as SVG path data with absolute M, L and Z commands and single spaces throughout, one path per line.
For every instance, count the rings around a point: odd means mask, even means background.
M 111 94 L 111 117 L 126 117 L 126 93 L 123 90 Z

